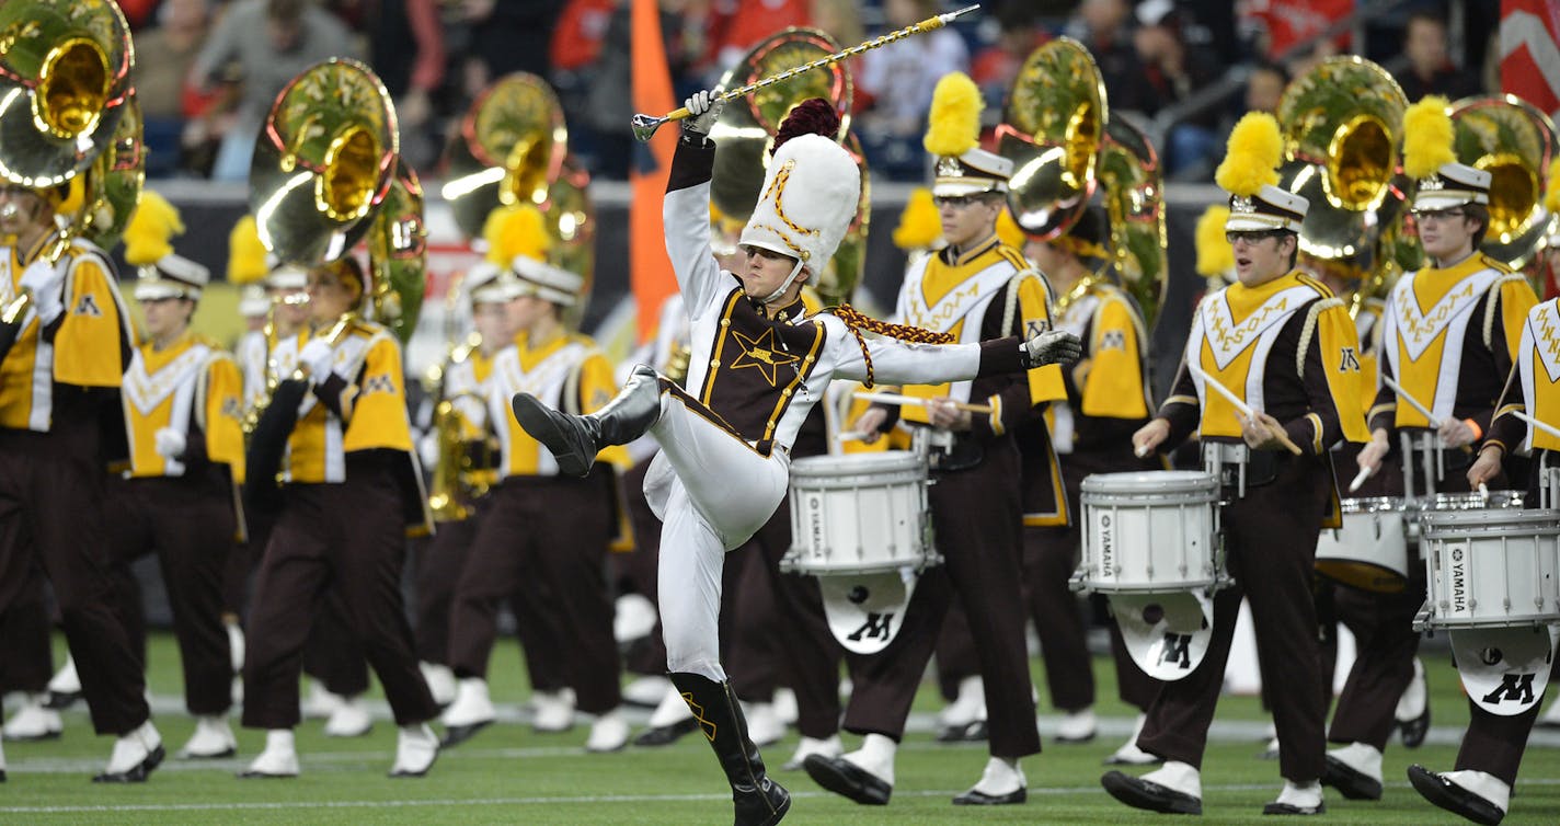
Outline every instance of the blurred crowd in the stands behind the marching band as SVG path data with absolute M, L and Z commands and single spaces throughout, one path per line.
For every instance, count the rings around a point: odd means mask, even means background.
M 844 45 L 963 0 L 660 0 L 677 100 L 713 86 L 752 44 L 791 25 Z M 1065 34 L 1104 77 L 1112 117 L 1156 142 L 1170 180 L 1212 178 L 1248 109 L 1273 109 L 1312 61 L 1356 53 L 1385 66 L 1409 100 L 1498 89 L 1488 0 L 984 0 L 980 14 L 855 59 L 856 133 L 875 173 L 922 180 L 931 89 L 969 72 L 1002 117 L 1025 56 Z M 402 153 L 437 175 L 446 134 L 509 72 L 546 78 L 571 147 L 599 178 L 624 178 L 629 0 L 120 0 L 136 30 L 151 176 L 242 181 L 276 92 L 332 55 L 368 61 L 395 97 Z M 1351 16 L 1356 16 L 1351 19 Z

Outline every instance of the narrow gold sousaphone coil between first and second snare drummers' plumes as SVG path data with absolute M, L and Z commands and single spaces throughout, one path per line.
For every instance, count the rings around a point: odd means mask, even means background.
M 1164 175 L 1148 136 L 1122 119 L 1106 123 L 1098 159 L 1111 225 L 1111 262 L 1153 329 L 1170 276 L 1165 262 Z

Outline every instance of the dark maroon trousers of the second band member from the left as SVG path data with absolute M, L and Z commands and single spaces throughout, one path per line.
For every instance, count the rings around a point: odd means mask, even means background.
M 131 562 L 156 551 L 184 662 L 184 707 L 232 706 L 232 659 L 222 625 L 222 578 L 232 548 L 232 490 L 220 478 L 109 479 L 103 503 L 114 531 L 109 561 L 131 650 L 145 665 L 147 611 Z M 80 667 L 80 665 L 78 665 Z

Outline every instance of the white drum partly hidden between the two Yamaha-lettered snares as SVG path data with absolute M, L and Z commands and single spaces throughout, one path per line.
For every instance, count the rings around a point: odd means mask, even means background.
M 1343 500 L 1343 526 L 1317 537 L 1317 573 L 1377 593 L 1409 584 L 1407 503 L 1398 497 Z

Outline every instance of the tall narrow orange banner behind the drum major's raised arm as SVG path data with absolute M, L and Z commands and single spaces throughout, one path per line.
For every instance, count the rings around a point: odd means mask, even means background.
M 672 75 L 666 67 L 666 41 L 661 39 L 660 5 L 657 0 L 633 0 L 633 111 L 661 116 L 677 108 L 672 97 Z M 666 258 L 666 233 L 661 228 L 661 197 L 666 175 L 677 145 L 675 125 L 655 133 L 647 144 L 635 144 L 629 183 L 633 203 L 629 205 L 629 284 L 638 304 L 640 340 L 655 333 L 661 301 L 677 292 L 677 278 Z

